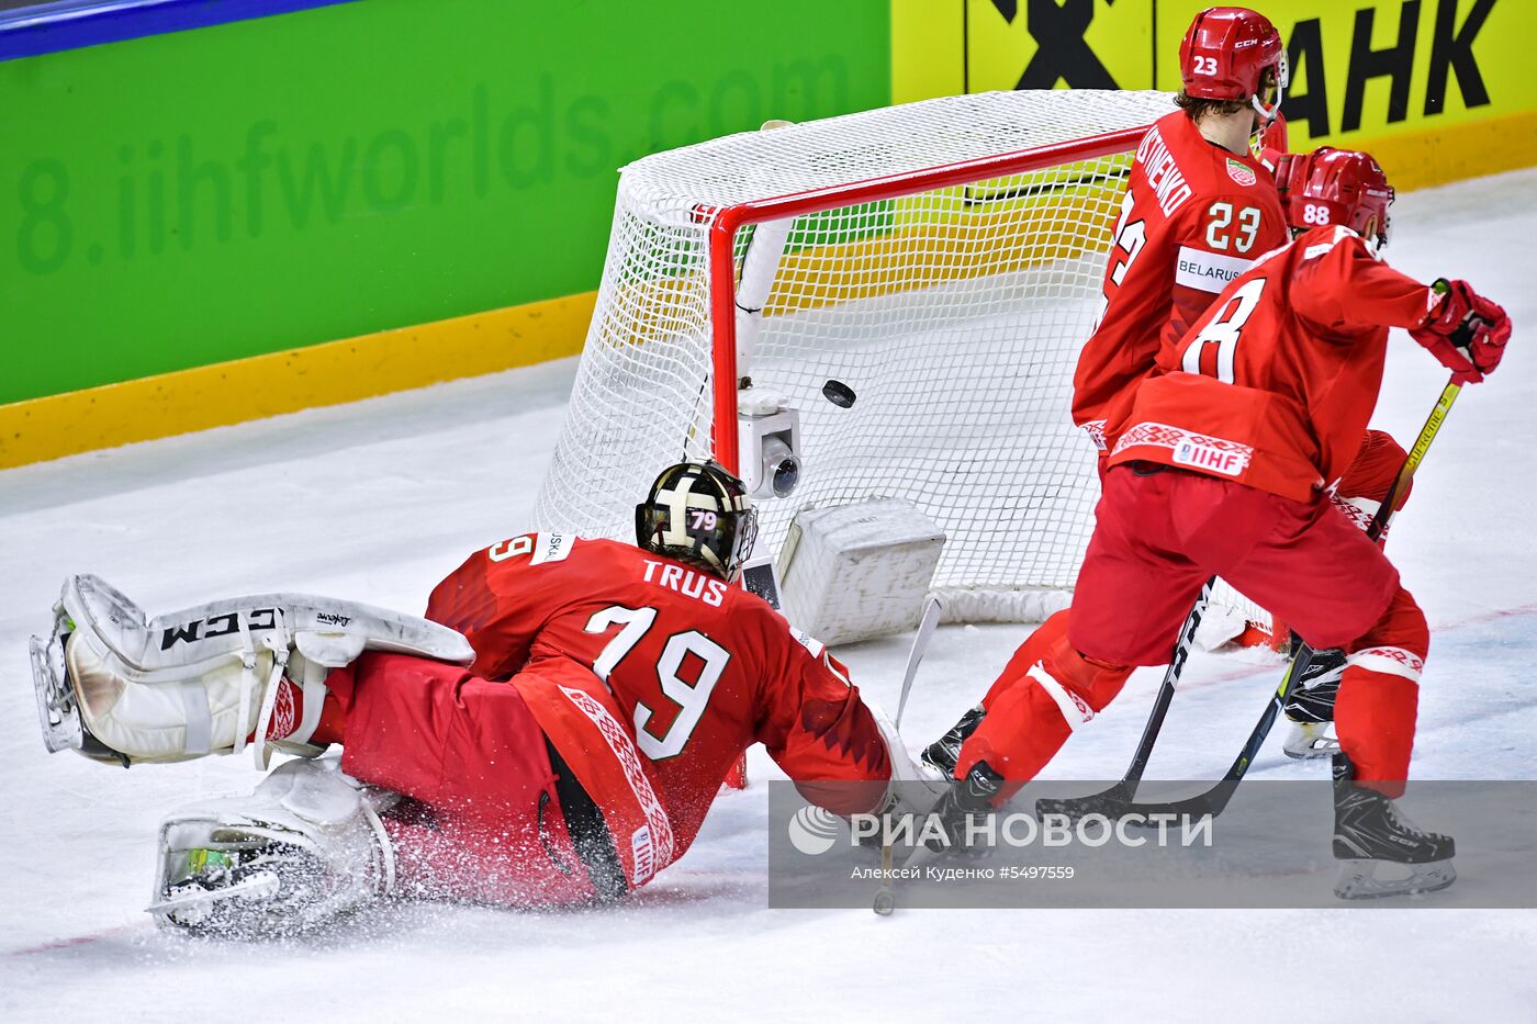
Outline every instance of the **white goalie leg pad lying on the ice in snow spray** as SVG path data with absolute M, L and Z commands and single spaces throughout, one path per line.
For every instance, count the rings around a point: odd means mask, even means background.
M 261 938 L 386 898 L 395 853 L 380 812 L 397 800 L 321 758 L 281 764 L 249 796 L 175 810 L 160 826 L 149 913 L 168 927 Z

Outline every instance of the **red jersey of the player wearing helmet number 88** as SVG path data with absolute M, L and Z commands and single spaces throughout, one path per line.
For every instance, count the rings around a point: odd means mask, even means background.
M 1299 501 L 1345 474 L 1377 404 L 1388 327 L 1419 327 L 1436 292 L 1348 228 L 1314 228 L 1234 281 L 1159 351 L 1110 426 L 1110 463 L 1151 461 Z

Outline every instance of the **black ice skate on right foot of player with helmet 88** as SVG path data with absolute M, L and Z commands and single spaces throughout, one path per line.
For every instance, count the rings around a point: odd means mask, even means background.
M 1334 859 L 1340 864 L 1334 895 L 1340 899 L 1436 892 L 1457 881 L 1451 858 L 1457 844 L 1449 835 L 1425 832 L 1399 806 L 1366 786 L 1357 786 L 1356 767 L 1334 755 Z M 1383 864 L 1403 866 L 1379 878 Z M 1400 876 L 1403 875 L 1403 876 Z

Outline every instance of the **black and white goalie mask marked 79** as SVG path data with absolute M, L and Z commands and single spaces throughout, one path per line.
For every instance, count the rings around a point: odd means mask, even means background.
M 747 487 L 719 463 L 678 463 L 635 506 L 635 543 L 658 555 L 735 580 L 758 540 Z

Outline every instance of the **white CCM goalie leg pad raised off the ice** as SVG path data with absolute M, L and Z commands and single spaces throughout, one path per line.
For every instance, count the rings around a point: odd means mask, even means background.
M 264 736 L 287 678 L 304 692 L 304 716 L 283 749 L 320 721 L 326 672 L 363 650 L 469 664 L 464 637 L 438 623 L 354 601 L 258 593 L 146 620 L 121 592 L 69 577 L 54 606 L 52 637 L 32 638 L 32 675 L 49 750 L 183 761 L 244 749 Z M 254 744 L 266 767 L 274 744 Z

